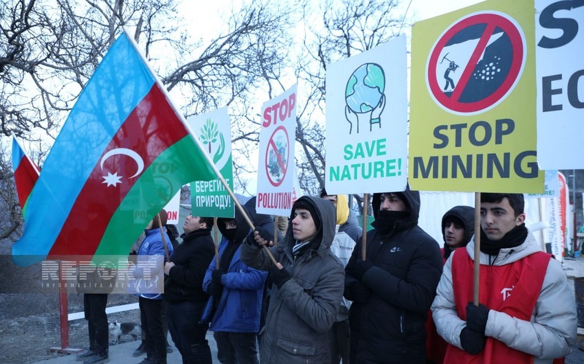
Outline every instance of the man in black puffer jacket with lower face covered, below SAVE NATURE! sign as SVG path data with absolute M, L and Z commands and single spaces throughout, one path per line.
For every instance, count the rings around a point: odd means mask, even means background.
M 367 233 L 367 258 L 361 242 L 346 266 L 350 363 L 426 361 L 426 315 L 442 274 L 436 240 L 418 227 L 420 194 L 373 194 L 374 229 Z

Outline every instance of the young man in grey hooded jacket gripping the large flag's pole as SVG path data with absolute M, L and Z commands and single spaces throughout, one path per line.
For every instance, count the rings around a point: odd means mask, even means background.
M 287 234 L 270 251 L 272 231 L 258 228 L 242 245 L 241 259 L 271 272 L 272 297 L 260 357 L 267 363 L 328 363 L 328 330 L 335 323 L 343 297 L 344 268 L 330 251 L 335 238 L 333 204 L 302 196 L 294 203 Z

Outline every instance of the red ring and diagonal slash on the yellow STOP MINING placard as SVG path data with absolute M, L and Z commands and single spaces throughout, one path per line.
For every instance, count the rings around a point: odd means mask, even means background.
M 477 24 L 486 25 L 484 33 L 481 36 L 478 45 L 475 47 L 467 66 L 462 71 L 462 75 L 460 76 L 456 88 L 449 97 L 442 92 L 442 88 L 440 87 L 440 84 L 438 84 L 438 79 L 436 78 L 436 67 L 438 67 L 438 62 L 440 61 L 438 58 L 440 57 L 442 49 L 447 45 L 451 38 L 453 38 L 453 36 L 463 32 L 467 27 Z M 476 102 L 459 102 L 460 95 L 467 86 L 467 82 L 471 78 L 476 65 L 478 65 L 478 61 L 486 48 L 489 37 L 497 27 L 507 34 L 511 47 L 513 48 L 513 60 L 511 61 L 510 69 L 504 82 L 502 82 L 493 93 L 482 100 Z M 499 102 L 502 102 L 502 100 L 506 98 L 506 95 L 513 90 L 513 87 L 515 87 L 515 84 L 519 80 L 519 76 L 521 76 L 521 71 L 524 66 L 524 56 L 526 54 L 525 46 L 525 38 L 521 30 L 519 30 L 514 21 L 508 19 L 504 14 L 495 14 L 493 12 L 471 14 L 467 18 L 457 21 L 438 39 L 436 45 L 434 45 L 434 48 L 431 50 L 427 62 L 426 80 L 432 98 L 434 98 L 436 103 L 443 109 L 455 113 L 471 114 L 490 109 Z

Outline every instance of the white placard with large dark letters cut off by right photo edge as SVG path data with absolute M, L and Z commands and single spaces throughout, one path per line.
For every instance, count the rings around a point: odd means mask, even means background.
M 582 169 L 584 3 L 536 0 L 535 8 L 537 163 Z

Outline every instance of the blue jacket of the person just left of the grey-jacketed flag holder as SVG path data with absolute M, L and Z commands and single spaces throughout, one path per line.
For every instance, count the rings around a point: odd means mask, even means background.
M 223 238 L 219 244 L 219 257 L 223 255 L 225 247 L 227 240 Z M 235 251 L 227 273 L 221 277 L 223 294 L 211 319 L 209 328 L 211 331 L 257 334 L 260 330 L 260 311 L 267 272 L 258 271 L 244 264 L 240 260 L 240 250 L 241 245 Z M 215 266 L 216 260 L 213 260 L 205 273 L 204 291 L 207 291 L 207 286 L 211 283 L 211 273 Z M 210 297 L 210 301 L 212 299 L 213 297 Z M 201 321 L 210 319 L 212 306 L 207 304 Z

